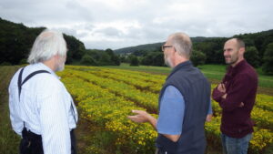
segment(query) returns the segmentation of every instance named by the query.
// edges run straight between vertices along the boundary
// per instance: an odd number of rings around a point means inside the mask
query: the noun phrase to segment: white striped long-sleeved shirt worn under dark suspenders
[[[46,70],[50,74],[36,74],[26,81],[19,100],[17,81],[21,69],[15,73],[8,89],[13,129],[22,136],[25,121],[27,130],[42,135],[45,154],[70,154],[70,130],[76,128],[77,121],[73,99],[55,72],[43,63],[37,63],[25,67],[22,82],[37,70]]]

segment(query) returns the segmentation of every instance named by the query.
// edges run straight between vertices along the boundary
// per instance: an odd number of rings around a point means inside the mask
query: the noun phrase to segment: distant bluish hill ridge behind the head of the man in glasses
[[[191,37],[191,40],[193,43],[199,43],[199,42],[204,42],[208,39],[214,39],[214,38],[219,38],[219,37],[204,37],[204,36],[197,36],[197,37]],[[138,45],[138,46],[129,46],[129,47],[124,47],[124,48],[119,48],[114,50],[116,54],[129,54],[133,53],[135,51],[161,51],[161,46],[165,42],[159,42],[159,43],[154,43],[154,44],[145,44],[145,45]]]

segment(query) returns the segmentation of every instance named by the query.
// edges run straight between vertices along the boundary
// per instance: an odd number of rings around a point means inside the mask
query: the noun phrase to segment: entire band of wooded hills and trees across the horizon
[[[27,27],[23,24],[0,18],[0,65],[20,65],[26,63],[30,49],[45,27]],[[74,36],[64,35],[68,48],[66,64],[91,66],[119,66],[121,62],[131,66],[165,66],[161,46],[164,43],[147,44],[121,48],[113,51],[86,49]],[[246,43],[245,57],[253,67],[261,67],[263,72],[273,74],[273,29],[240,34]],[[195,66],[204,64],[224,64],[223,46],[229,37],[192,37],[193,52],[191,61]]]

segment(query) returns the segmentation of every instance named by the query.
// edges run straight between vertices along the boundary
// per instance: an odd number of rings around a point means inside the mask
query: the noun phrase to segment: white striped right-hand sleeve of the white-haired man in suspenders
[[[44,89],[43,93],[37,97],[40,102],[39,114],[44,152],[45,154],[71,153],[64,91],[57,82],[48,83]]]

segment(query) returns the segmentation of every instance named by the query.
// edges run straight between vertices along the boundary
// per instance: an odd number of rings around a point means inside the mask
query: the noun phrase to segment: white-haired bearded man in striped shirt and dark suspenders
[[[61,33],[45,30],[36,37],[28,62],[9,85],[12,127],[22,137],[20,154],[76,154],[76,106],[56,76],[66,62]]]

